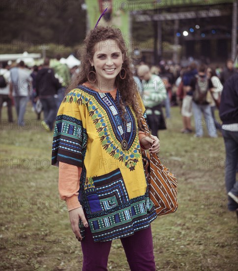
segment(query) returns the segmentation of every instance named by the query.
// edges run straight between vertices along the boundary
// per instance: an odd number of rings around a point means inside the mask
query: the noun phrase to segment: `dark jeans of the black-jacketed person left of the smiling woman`
[[[58,110],[56,98],[54,96],[40,97],[40,102],[43,106],[44,120],[50,130],[53,130]]]

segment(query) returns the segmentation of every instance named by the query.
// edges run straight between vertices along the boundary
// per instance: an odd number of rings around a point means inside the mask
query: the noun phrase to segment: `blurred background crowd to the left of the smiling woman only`
[[[42,127],[52,131],[57,110],[62,102],[66,87],[77,67],[68,68],[60,63],[60,56],[50,60],[45,58],[42,65],[29,68],[24,61],[9,66],[1,63],[0,68],[0,119],[2,105],[6,104],[8,123],[12,123],[12,105],[16,108],[17,124],[25,125],[25,113],[28,102],[36,113],[37,120],[44,117]]]

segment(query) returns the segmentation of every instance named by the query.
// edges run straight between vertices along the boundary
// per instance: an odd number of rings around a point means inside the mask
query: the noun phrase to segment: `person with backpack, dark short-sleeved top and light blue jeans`
[[[208,135],[217,137],[216,127],[211,114],[211,107],[207,100],[208,91],[212,90],[213,85],[210,79],[206,76],[206,66],[202,64],[199,67],[198,75],[191,79],[189,89],[192,90],[192,109],[195,122],[195,137],[203,136],[203,126],[206,123]],[[205,122],[202,119],[202,113]]]

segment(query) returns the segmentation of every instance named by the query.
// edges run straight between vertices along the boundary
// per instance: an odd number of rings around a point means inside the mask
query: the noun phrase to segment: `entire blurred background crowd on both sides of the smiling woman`
[[[181,67],[172,61],[161,61],[160,65],[151,67],[141,62],[132,69],[146,106],[152,135],[158,135],[160,130],[166,129],[166,119],[171,118],[173,105],[181,108],[181,133],[195,132],[194,136],[202,137],[203,127],[207,127],[210,137],[217,137],[217,131],[221,132],[221,122],[216,119],[215,111],[219,107],[224,83],[237,72],[232,60],[229,59],[224,68],[203,63],[198,65],[195,62]],[[78,71],[79,67],[70,69],[66,64],[61,64],[59,55],[54,61],[46,58],[42,65],[31,68],[24,61],[13,67],[9,67],[6,62],[1,63],[0,76],[7,83],[0,87],[0,112],[5,102],[8,122],[13,122],[14,104],[18,125],[24,126],[26,106],[31,101],[38,120],[41,111],[44,112],[42,127],[52,131],[67,86]],[[192,115],[194,128],[191,125]]]

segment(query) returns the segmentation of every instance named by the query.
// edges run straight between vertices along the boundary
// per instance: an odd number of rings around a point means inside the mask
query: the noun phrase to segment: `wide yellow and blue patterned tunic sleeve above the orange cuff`
[[[81,95],[77,90],[70,92],[59,107],[52,146],[54,166],[63,162],[82,167],[88,135],[86,106],[80,102]]]

